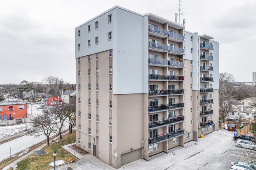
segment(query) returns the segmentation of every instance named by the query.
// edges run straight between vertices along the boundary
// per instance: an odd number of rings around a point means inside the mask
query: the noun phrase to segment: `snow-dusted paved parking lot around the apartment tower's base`
[[[191,141],[184,147],[178,146],[149,158],[124,165],[120,170],[228,170],[231,162],[246,162],[256,159],[256,151],[238,148],[233,140],[233,132],[219,130],[198,141]],[[102,162],[103,163],[103,162]],[[101,164],[102,165],[102,164]],[[100,166],[90,158],[59,166],[57,170],[113,169],[108,165]]]

